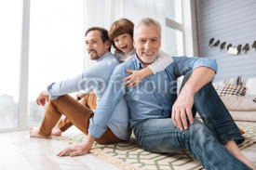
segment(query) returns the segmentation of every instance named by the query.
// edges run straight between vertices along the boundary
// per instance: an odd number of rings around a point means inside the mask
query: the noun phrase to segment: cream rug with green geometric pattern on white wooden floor
[[[243,136],[246,139],[239,145],[240,150],[256,143],[256,125],[237,125],[245,131]],[[85,143],[87,136],[81,134],[74,137],[58,137],[58,139],[69,144],[81,144]],[[155,154],[142,150],[135,137],[130,137],[128,142],[112,145],[101,145],[95,142],[91,152],[102,160],[123,169],[203,169],[203,166],[187,150]]]

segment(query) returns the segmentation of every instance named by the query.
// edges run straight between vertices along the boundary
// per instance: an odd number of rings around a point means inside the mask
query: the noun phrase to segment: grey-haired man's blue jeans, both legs
[[[182,85],[190,77],[187,72]],[[195,109],[204,123],[194,119],[181,131],[171,118],[145,119],[134,125],[134,135],[143,150],[161,153],[189,150],[206,169],[250,169],[234,157],[222,143],[244,141],[221,98],[209,83],[195,94]],[[195,115],[194,109],[194,115]]]

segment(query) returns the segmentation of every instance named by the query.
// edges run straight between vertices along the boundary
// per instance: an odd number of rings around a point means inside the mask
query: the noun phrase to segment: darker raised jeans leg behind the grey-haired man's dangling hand
[[[189,71],[185,74],[182,87],[190,77],[191,73],[192,71]],[[195,93],[194,102],[194,115],[196,113],[195,111],[197,111],[209,130],[219,141],[225,143],[229,140],[235,140],[238,145],[245,140],[244,137],[240,135],[237,125],[229,111],[227,111],[222,99],[218,96],[211,82],[204,85],[197,93]]]

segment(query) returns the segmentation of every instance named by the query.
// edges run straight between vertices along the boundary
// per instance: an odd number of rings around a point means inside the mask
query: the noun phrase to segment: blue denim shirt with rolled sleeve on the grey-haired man
[[[130,110],[130,127],[144,119],[168,117],[177,98],[177,78],[197,67],[209,67],[215,72],[218,70],[215,59],[173,57],[173,62],[164,71],[149,75],[135,88],[130,88],[124,85],[122,79],[130,74],[126,70],[142,69],[141,62],[135,54],[133,59],[115,68],[101,98],[97,114],[90,124],[89,134],[101,137],[116,104],[123,97],[127,100]],[[111,102],[108,102],[110,100]]]

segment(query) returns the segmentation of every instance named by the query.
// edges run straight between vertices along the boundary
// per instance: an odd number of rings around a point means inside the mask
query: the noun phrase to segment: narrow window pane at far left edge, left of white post
[[[0,1],[0,128],[18,126],[22,3]]]

